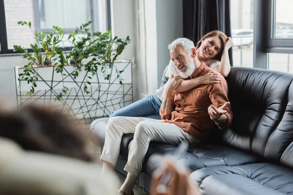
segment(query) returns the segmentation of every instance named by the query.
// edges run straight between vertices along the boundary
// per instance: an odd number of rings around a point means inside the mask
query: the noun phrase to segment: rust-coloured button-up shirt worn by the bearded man
[[[214,70],[201,62],[200,67],[186,80],[204,76],[212,71]],[[228,121],[223,126],[212,121],[208,113],[211,104],[219,108],[229,101],[228,84],[225,79],[215,84],[201,84],[186,92],[173,92],[172,98],[175,108],[171,115],[164,115],[160,110],[163,122],[175,124],[201,141],[206,141],[209,138],[209,133],[215,125],[225,129],[232,122],[233,115],[230,105],[226,107]]]

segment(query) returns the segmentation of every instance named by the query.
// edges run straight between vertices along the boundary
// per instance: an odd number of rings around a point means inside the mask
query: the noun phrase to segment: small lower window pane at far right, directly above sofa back
[[[268,53],[267,69],[293,73],[293,54]]]

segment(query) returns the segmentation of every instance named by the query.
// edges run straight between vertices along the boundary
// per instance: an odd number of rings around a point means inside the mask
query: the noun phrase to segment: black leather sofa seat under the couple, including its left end
[[[95,140],[99,143],[101,148],[105,142],[105,129],[108,118],[100,118],[92,123],[91,132],[93,137],[99,137]],[[133,134],[124,134],[121,140],[119,158],[127,160],[129,148],[132,145]],[[166,155],[173,155],[176,146],[152,141],[149,144],[148,151],[143,165],[143,172],[147,176],[151,174],[160,166],[162,157]],[[236,166],[250,163],[262,162],[262,158],[246,153],[237,149],[233,149],[224,145],[212,145],[204,143],[191,144],[188,147],[181,161],[192,171],[210,167],[210,166]]]

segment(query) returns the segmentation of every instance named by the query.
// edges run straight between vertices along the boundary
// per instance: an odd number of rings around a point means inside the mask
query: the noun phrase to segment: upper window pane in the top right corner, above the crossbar
[[[293,38],[292,0],[275,0],[274,38]]]

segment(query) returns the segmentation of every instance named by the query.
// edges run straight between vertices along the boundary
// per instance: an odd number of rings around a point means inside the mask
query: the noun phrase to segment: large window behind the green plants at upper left
[[[59,26],[66,35],[93,20],[91,29],[105,32],[110,27],[108,3],[108,0],[0,0],[0,53],[13,53],[13,45],[29,48],[35,42],[30,29],[17,24],[18,21],[31,21],[33,32],[46,34],[55,31],[53,25]]]

